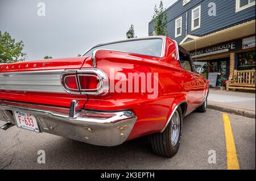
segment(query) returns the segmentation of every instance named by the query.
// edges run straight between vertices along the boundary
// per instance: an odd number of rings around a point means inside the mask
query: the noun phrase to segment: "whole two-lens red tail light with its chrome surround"
[[[100,69],[65,70],[61,84],[71,94],[102,95],[109,91],[108,76]]]

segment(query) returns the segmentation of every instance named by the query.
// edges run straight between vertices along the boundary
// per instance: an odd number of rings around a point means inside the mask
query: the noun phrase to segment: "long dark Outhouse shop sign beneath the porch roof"
[[[232,50],[235,50],[237,47],[237,42],[230,42],[230,43],[225,43],[221,45],[216,45],[214,47],[209,47],[205,49],[200,49],[196,50],[195,52],[191,53],[192,58],[197,58],[197,57],[204,57],[204,56],[209,56],[212,54],[219,54],[219,53],[225,53],[225,52],[230,52]],[[240,45],[241,47],[241,45]]]

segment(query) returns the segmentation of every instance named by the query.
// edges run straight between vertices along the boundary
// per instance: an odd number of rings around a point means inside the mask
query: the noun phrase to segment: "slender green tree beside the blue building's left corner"
[[[166,30],[168,16],[167,16],[166,8],[164,8],[162,1],[160,1],[159,7],[155,5],[154,11],[155,12],[152,17],[152,21],[154,22],[154,25],[155,25],[155,35],[168,36],[168,32]]]

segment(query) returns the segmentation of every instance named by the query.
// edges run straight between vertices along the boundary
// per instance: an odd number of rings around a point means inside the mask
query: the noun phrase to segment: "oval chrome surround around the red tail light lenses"
[[[80,83],[78,81],[78,85],[79,85],[79,91],[72,91],[72,90],[68,90],[67,87],[65,86],[65,82],[63,77],[66,74],[82,74],[82,73],[91,73],[91,74],[96,74],[101,82],[101,88],[100,90],[97,90],[96,92],[86,92],[87,90],[81,90],[80,87]],[[64,70],[63,73],[61,73],[60,75],[60,80],[61,80],[61,85],[63,86],[63,89],[68,92],[69,94],[88,94],[88,95],[105,95],[109,92],[109,78],[108,76],[104,73],[104,71],[102,71],[101,69],[98,68],[87,68],[87,69],[81,69],[81,70]]]

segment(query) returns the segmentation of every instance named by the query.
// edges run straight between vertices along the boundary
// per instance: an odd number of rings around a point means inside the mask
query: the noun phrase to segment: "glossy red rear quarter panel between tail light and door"
[[[146,134],[160,132],[177,103],[187,100],[187,92],[191,91],[191,82],[186,80],[183,69],[164,62],[164,59],[141,56],[131,53],[100,50],[96,55],[97,68],[102,69],[114,81],[115,85],[121,79],[113,77],[110,71],[117,75],[125,75],[123,82],[127,85],[129,73],[158,74],[158,89],[154,99],[149,99],[150,92],[109,92],[104,96],[88,95],[86,109],[106,111],[131,109],[137,115],[128,140]],[[177,61],[177,60],[168,60]]]

